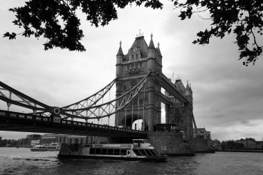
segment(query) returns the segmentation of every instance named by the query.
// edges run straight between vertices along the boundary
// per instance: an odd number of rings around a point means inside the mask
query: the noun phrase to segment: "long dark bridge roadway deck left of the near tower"
[[[145,131],[97,125],[89,122],[64,120],[60,116],[36,116],[27,113],[0,110],[1,131],[33,133],[64,133],[71,135],[102,136],[110,138],[146,138]]]

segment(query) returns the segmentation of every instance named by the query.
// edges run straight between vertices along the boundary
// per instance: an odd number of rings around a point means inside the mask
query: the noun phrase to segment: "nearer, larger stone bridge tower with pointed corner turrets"
[[[115,125],[129,128],[132,122],[142,119],[142,129],[154,131],[154,125],[161,123],[161,100],[159,98],[161,86],[156,80],[156,73],[162,72],[162,55],[159,44],[155,48],[151,35],[148,46],[143,33],[139,33],[126,55],[123,54],[120,42],[116,59],[116,75],[118,75],[116,98],[136,86],[149,71],[150,75],[138,98],[135,98],[123,111],[116,113]]]

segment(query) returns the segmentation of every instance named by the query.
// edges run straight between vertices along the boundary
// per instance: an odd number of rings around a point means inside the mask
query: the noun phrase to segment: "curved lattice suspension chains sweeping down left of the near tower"
[[[73,120],[74,118],[79,118],[86,121],[89,119],[99,120],[100,118],[109,117],[122,110],[132,100],[134,100],[143,86],[145,86],[149,73],[147,73],[147,75],[145,75],[145,77],[143,77],[143,79],[140,80],[136,86],[127,91],[127,93],[105,103],[103,103],[103,97],[110,92],[111,87],[115,84],[116,80],[118,80],[118,77],[112,80],[103,89],[88,98],[62,108],[48,106],[47,104],[39,102],[30,98],[28,95],[13,89],[3,82],[0,82],[0,100],[7,102],[8,110],[11,104],[15,104],[20,107],[32,109],[33,114],[44,114],[44,116],[49,116],[46,113],[53,113],[55,115],[62,116],[64,119],[71,118]],[[102,104],[98,104],[101,99]]]

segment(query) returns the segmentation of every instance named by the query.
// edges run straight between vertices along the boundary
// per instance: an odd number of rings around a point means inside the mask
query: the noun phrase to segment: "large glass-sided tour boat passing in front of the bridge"
[[[67,145],[62,143],[58,158],[89,158],[100,160],[143,160],[161,162],[160,155],[145,139],[133,139],[130,144]]]

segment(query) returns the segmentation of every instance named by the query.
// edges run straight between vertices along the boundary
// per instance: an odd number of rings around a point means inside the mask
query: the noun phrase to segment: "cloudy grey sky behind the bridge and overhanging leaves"
[[[120,41],[127,54],[140,30],[147,44],[151,34],[155,46],[160,43],[163,73],[173,82],[179,76],[183,84],[191,84],[197,127],[205,127],[212,139],[262,140],[262,55],[255,66],[243,66],[234,35],[210,39],[206,46],[192,44],[200,30],[210,28],[211,21],[201,19],[207,14],[181,21],[179,10],[164,2],[163,10],[127,6],[118,10],[117,20],[98,28],[80,15],[82,44],[87,49],[82,53],[60,48],[45,51],[45,39],[0,37],[0,81],[50,106],[72,104],[114,80]],[[24,1],[0,1],[0,35],[21,32],[12,24],[15,15],[8,9],[23,5]],[[6,103],[0,101],[0,109],[7,110]],[[0,131],[3,139],[26,134]]]

